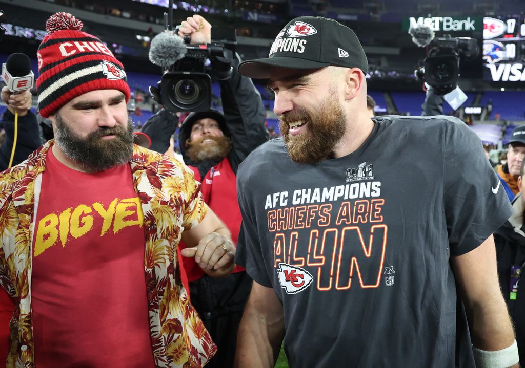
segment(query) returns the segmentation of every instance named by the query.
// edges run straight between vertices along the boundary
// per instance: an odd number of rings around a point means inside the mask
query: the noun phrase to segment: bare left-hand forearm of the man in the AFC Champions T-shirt
[[[254,281],[239,325],[234,368],[273,367],[284,335],[282,304],[274,289]]]

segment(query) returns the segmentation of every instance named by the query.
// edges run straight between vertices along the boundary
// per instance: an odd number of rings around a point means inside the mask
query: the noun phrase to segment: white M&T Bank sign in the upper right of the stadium
[[[408,31],[409,27],[426,25],[434,31],[475,31],[481,30],[483,23],[481,17],[410,17],[403,21],[403,30]]]

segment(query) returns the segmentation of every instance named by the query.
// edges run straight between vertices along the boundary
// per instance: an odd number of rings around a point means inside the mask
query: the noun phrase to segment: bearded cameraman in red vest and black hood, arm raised
[[[182,22],[178,35],[190,35],[191,44],[209,44],[211,28],[203,17],[194,15]],[[218,81],[224,114],[215,110],[193,112],[185,118],[179,132],[184,161],[194,171],[196,179],[201,181],[205,202],[228,226],[234,243],[237,242],[241,222],[237,203],[237,168],[252,150],[268,140],[260,94],[249,78],[238,73],[239,63],[237,56],[233,59],[231,75]],[[212,69],[213,65],[212,60]],[[164,153],[175,129],[176,117],[163,109],[144,124],[142,132],[150,136],[151,149]],[[209,132],[211,129],[215,129],[214,133]],[[195,135],[195,131],[201,132]],[[217,144],[217,141],[211,142],[214,140],[212,135],[217,139],[226,137],[223,142],[230,142],[229,150],[223,151],[222,157],[197,158],[188,155],[188,150],[198,150],[201,145],[204,148]],[[195,136],[199,138],[192,140]],[[193,258],[191,262],[187,261],[188,258],[184,258],[192,304],[218,346],[216,355],[207,366],[233,366],[237,327],[251,289],[251,279],[239,266],[226,278],[212,278],[202,272]]]

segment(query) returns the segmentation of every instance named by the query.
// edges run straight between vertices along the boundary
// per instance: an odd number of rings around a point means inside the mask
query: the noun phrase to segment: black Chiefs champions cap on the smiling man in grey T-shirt
[[[298,17],[279,32],[268,58],[240,63],[239,73],[267,79],[272,67],[314,69],[330,65],[359,68],[366,74],[368,62],[358,37],[337,20]]]

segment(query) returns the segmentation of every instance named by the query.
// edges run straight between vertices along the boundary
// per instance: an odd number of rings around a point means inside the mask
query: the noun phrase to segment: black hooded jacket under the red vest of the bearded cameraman
[[[219,81],[220,99],[226,122],[224,134],[232,138],[232,150],[228,154],[228,160],[235,173],[237,173],[237,168],[241,161],[251,151],[268,140],[268,132],[264,125],[265,111],[261,96],[251,79],[239,74],[237,71],[239,63],[240,60],[238,58],[234,59],[232,76],[229,79]],[[172,114],[163,110],[152,116],[144,124],[142,132],[150,137],[152,150],[164,153],[169,147],[170,137],[176,129],[176,118],[172,120],[170,115]],[[187,138],[186,129],[181,129],[178,140],[184,162],[186,165],[196,166],[201,177],[204,177],[220,160],[206,160],[198,164],[194,163],[185,155],[186,148],[184,143]]]

